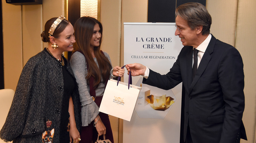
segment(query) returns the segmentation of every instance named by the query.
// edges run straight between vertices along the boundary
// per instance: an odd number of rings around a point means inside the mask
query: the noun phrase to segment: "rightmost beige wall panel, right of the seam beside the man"
[[[238,0],[238,16],[236,29],[236,48],[240,52],[244,62],[245,73],[245,111],[244,124],[248,141],[241,143],[255,143],[256,126],[256,40],[255,17],[256,1]]]

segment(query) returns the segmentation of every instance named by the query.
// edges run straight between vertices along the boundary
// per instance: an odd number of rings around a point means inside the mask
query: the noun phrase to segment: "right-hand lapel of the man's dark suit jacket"
[[[202,57],[202,60],[198,66],[198,69],[197,69],[197,73],[196,73],[196,76],[194,77],[194,79],[192,80],[192,83],[189,87],[189,93],[192,91],[193,87],[196,85],[196,83],[198,82],[199,78],[201,77],[201,75],[203,74],[203,71],[205,70],[205,68],[207,67],[210,59],[211,59],[211,54],[214,50],[214,46],[215,46],[215,43],[216,43],[216,38],[213,37],[212,35],[212,38],[209,42],[209,45],[207,46],[204,54],[203,54],[203,57]],[[191,69],[191,76],[192,76],[192,69]]]

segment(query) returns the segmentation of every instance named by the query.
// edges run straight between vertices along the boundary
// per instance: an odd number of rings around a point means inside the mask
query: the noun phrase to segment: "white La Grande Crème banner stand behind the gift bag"
[[[175,23],[124,23],[124,65],[141,63],[160,74],[169,72],[183,47],[175,30]],[[181,84],[163,90],[142,79],[132,78],[142,88],[131,121],[124,120],[123,143],[179,143]]]

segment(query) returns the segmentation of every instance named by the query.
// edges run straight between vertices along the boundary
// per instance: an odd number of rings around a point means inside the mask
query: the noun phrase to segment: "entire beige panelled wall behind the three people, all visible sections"
[[[102,49],[109,53],[113,66],[123,65],[123,23],[147,22],[148,0],[101,0],[104,27]],[[47,20],[64,15],[64,0],[44,0],[43,5],[14,6],[2,2],[5,88],[15,89],[27,60],[46,44],[40,34]],[[256,129],[256,40],[254,40],[255,0],[207,0],[212,16],[211,33],[235,46],[244,61],[245,112],[243,121],[248,141],[255,143]],[[122,143],[122,120],[110,117],[116,143]]]

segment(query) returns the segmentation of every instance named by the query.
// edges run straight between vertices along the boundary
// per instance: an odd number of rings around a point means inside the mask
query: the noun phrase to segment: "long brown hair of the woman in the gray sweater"
[[[99,24],[100,32],[101,32],[99,46],[94,47],[94,55],[97,59],[99,67],[97,67],[89,48],[95,24]],[[112,65],[109,62],[108,58],[103,54],[101,54],[100,52],[100,45],[102,42],[102,31],[103,31],[102,24],[92,17],[80,17],[75,22],[74,29],[75,29],[75,40],[76,40],[75,51],[81,51],[86,57],[86,61],[88,64],[88,69],[87,69],[88,73],[86,75],[87,83],[90,77],[93,76],[94,77],[93,86],[96,88],[100,84],[101,78],[103,78],[104,82],[108,80],[110,76],[110,70],[112,68]]]

